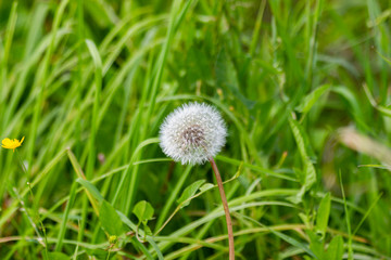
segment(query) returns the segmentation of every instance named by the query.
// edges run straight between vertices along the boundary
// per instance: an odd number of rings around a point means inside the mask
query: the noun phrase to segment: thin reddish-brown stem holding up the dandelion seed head
[[[232,221],[229,214],[229,208],[228,208],[228,203],[227,203],[227,198],[225,196],[225,192],[224,192],[224,187],[223,187],[223,181],[222,181],[222,177],[218,172],[218,168],[216,166],[216,162],[214,161],[214,159],[212,157],[210,157],[210,161],[212,165],[212,169],[215,173],[216,180],[217,180],[217,185],[218,185],[218,191],[220,193],[220,197],[222,197],[222,203],[223,203],[223,207],[224,207],[224,212],[226,214],[226,221],[227,221],[227,230],[228,230],[228,243],[229,243],[229,260],[235,260],[235,244],[234,244],[234,232],[232,232]]]

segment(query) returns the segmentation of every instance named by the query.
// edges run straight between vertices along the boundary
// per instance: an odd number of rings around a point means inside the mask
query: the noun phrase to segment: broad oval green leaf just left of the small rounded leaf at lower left
[[[109,235],[119,236],[124,233],[122,220],[114,207],[106,200],[102,200],[99,209],[99,220]]]

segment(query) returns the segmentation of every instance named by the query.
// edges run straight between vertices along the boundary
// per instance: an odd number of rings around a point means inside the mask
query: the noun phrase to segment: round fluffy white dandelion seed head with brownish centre
[[[226,142],[222,115],[205,103],[189,103],[169,114],[160,129],[161,147],[175,161],[203,164]]]

